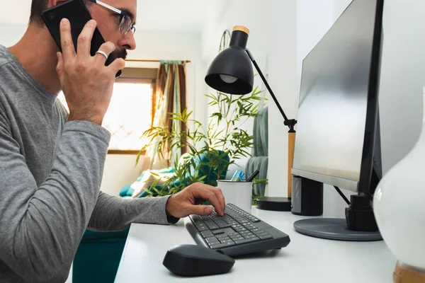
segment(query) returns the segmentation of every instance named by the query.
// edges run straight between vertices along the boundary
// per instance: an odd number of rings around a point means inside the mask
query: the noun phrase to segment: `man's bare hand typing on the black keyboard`
[[[189,185],[176,195],[171,195],[166,203],[166,213],[176,218],[190,214],[210,215],[212,208],[208,205],[198,205],[199,202],[210,201],[218,215],[225,215],[225,197],[218,187],[203,183]]]

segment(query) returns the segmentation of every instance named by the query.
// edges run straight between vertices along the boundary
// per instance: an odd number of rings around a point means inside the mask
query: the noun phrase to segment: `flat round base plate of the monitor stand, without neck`
[[[346,219],[312,218],[294,222],[295,231],[316,238],[340,241],[380,241],[379,231],[352,231],[348,230]]]

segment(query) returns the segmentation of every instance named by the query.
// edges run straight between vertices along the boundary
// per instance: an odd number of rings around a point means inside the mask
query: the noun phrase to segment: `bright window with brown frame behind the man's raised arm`
[[[102,123],[111,132],[108,154],[137,154],[147,144],[140,137],[151,126],[156,75],[157,69],[128,68],[115,81]],[[67,108],[63,93],[59,98]]]

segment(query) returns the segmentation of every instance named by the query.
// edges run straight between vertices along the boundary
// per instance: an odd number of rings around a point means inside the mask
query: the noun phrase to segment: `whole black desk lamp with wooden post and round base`
[[[257,201],[257,207],[267,210],[291,210],[292,196],[292,175],[290,173],[293,167],[294,147],[295,147],[295,124],[297,120],[288,119],[285,112],[280,107],[276,96],[263,76],[259,65],[256,63],[251,52],[246,48],[248,42],[249,30],[242,25],[233,28],[229,47],[215,57],[205,76],[205,83],[211,88],[222,93],[244,95],[251,93],[254,86],[254,71],[252,64],[258,71],[268,92],[278,106],[280,114],[285,119],[285,126],[288,126],[288,197],[265,197]],[[251,64],[252,62],[252,64]]]

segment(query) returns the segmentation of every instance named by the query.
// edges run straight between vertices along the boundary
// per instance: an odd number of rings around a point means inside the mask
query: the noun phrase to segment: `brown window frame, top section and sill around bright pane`
[[[157,73],[158,68],[134,68],[126,67],[123,69],[123,74],[115,79],[115,83],[150,83],[152,86],[152,98],[157,93]],[[152,105],[153,106],[153,105]],[[137,155],[139,150],[125,150],[125,149],[108,149],[108,155]],[[142,155],[146,151],[142,151]]]

